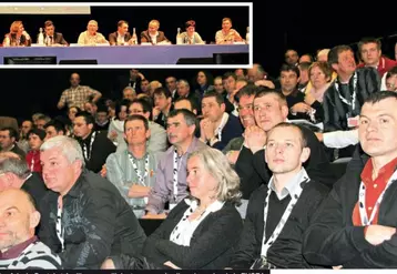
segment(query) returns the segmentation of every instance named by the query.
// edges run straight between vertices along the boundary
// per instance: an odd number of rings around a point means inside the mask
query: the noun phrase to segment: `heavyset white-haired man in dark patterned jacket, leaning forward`
[[[40,151],[51,191],[40,204],[39,236],[63,266],[99,268],[109,255],[139,255],[146,239],[142,227],[118,189],[84,169],[78,141],[54,136]]]

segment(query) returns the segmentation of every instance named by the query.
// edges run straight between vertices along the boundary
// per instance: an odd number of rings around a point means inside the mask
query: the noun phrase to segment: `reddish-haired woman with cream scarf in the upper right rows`
[[[305,91],[305,103],[315,109],[313,123],[324,120],[323,99],[324,93],[332,84],[333,70],[327,62],[314,62],[308,69],[309,83]]]

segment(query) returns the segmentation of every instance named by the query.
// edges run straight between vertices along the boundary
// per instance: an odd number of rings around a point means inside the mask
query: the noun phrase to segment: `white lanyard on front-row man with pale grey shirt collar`
[[[303,170],[304,171],[304,170]],[[311,181],[311,179],[308,177],[307,173],[304,172],[302,180],[299,182],[299,187],[296,187],[297,190],[295,191],[295,193],[291,193],[291,201],[287,205],[287,207],[285,209],[282,219],[279,220],[276,229],[273,231],[272,235],[268,237],[267,242],[265,242],[266,239],[266,221],[267,221],[267,213],[268,213],[268,200],[269,196],[272,194],[272,189],[271,189],[271,183],[272,183],[273,179],[269,181],[268,183],[268,189],[267,189],[267,196],[265,200],[265,209],[264,209],[264,223],[265,223],[265,227],[263,230],[263,245],[262,245],[262,250],[261,250],[261,255],[266,257],[267,256],[267,251],[268,248],[272,246],[272,244],[277,240],[279,233],[283,231],[285,223],[288,221],[288,217],[291,215],[291,212],[293,211],[296,202],[298,201],[303,187],[301,187],[302,183],[307,183]]]

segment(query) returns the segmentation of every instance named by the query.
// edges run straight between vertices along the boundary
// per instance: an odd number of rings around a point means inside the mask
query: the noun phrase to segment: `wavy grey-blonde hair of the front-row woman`
[[[240,177],[227,162],[226,156],[216,149],[205,148],[192,152],[187,160],[197,156],[204,169],[216,180],[216,197],[221,202],[241,204]]]

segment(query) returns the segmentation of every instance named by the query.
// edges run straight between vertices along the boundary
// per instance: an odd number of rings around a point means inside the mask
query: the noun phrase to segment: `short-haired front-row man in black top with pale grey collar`
[[[309,267],[302,255],[302,235],[328,193],[302,166],[309,155],[306,135],[298,125],[284,122],[267,133],[265,160],[273,176],[250,199],[231,267]]]

